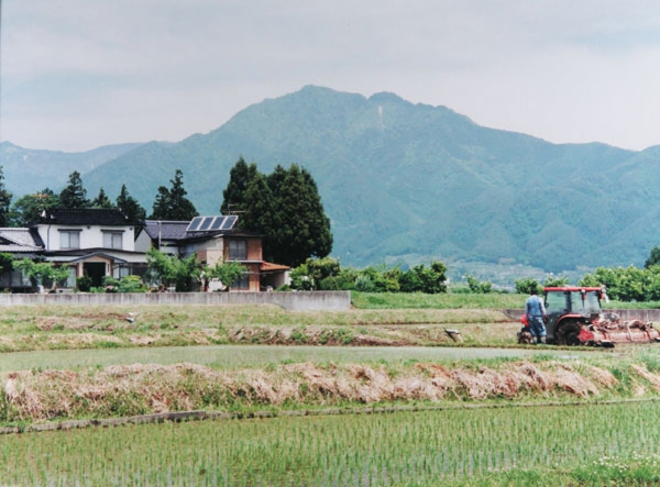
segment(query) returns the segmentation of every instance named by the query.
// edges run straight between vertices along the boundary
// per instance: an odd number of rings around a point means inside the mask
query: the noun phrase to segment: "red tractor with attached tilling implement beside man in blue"
[[[652,323],[639,320],[622,322],[616,313],[603,312],[600,287],[547,287],[546,305],[547,342],[557,345],[614,346],[615,343],[660,342],[660,332]],[[532,343],[522,316],[518,343]]]

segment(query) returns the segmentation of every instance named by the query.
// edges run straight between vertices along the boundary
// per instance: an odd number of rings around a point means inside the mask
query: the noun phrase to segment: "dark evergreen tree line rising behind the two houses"
[[[160,186],[152,212],[133,198],[122,185],[112,201],[103,188],[96,198],[88,198],[78,171],[69,175],[67,185],[56,193],[44,188],[25,195],[11,203],[12,195],[4,186],[0,166],[0,226],[28,226],[38,221],[44,210],[119,209],[129,221],[189,221],[199,213],[188,199],[184,174],[176,169],[170,186]],[[332,250],[330,219],[324,212],[318,187],[309,171],[293,164],[280,165],[272,174],[258,171],[256,164],[248,165],[243,157],[230,170],[222,191],[222,214],[238,214],[238,228],[262,236],[264,259],[287,266],[302,264],[309,257],[322,258]]]

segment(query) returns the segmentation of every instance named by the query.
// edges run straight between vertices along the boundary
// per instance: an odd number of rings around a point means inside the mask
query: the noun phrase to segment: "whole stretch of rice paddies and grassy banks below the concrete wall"
[[[0,485],[660,482],[657,347],[519,347],[522,296],[388,299],[3,309]]]

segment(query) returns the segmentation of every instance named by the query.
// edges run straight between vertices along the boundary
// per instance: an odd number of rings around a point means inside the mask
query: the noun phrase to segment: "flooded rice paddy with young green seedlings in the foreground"
[[[658,479],[659,416],[660,403],[645,401],[25,433],[0,438],[0,478],[53,487],[373,487],[490,485],[522,469],[578,486],[644,452],[642,475]]]

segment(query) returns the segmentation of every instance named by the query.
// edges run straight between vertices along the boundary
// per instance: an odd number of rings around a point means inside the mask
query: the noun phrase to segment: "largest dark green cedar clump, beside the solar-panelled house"
[[[298,266],[309,257],[330,253],[330,220],[306,169],[294,164],[287,170],[278,165],[264,177],[242,158],[234,169],[221,208],[239,208],[243,211],[241,228],[264,235],[265,259]]]

